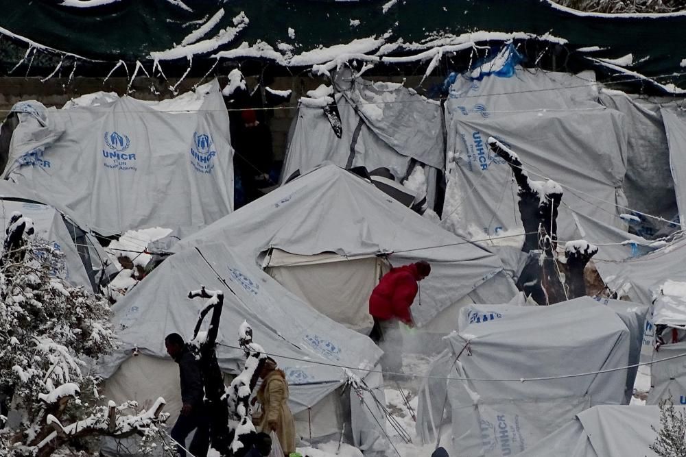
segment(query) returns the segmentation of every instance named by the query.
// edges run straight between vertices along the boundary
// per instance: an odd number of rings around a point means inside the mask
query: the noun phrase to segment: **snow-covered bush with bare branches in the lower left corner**
[[[0,401],[3,411],[11,407],[21,419],[1,430],[0,455],[43,457],[60,448],[88,447],[88,436],[153,430],[165,417],[159,415],[162,398],[137,415],[121,415],[137,408],[134,402],[98,406],[91,366],[115,345],[107,302],[60,279],[62,253],[50,245],[23,240],[21,256],[5,254]]]

